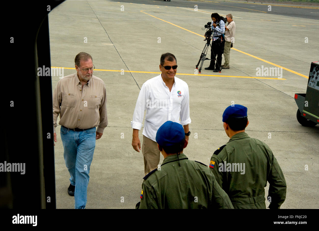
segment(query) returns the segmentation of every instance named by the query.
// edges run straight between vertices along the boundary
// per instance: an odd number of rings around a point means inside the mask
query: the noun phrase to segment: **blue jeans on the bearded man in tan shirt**
[[[89,172],[95,148],[96,128],[77,132],[61,126],[65,165],[74,186],[75,208],[85,208]]]

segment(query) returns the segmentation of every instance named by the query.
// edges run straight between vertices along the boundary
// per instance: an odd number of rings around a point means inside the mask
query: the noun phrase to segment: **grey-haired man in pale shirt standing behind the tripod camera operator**
[[[221,65],[222,69],[229,69],[229,56],[230,56],[230,48],[232,47],[232,43],[235,42],[235,30],[236,25],[233,21],[233,15],[227,14],[226,19],[228,25],[225,26],[225,47],[224,47],[224,65]]]

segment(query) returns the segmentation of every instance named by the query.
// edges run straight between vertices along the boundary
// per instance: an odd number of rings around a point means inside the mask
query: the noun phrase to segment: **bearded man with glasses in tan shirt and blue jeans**
[[[64,160],[71,176],[68,194],[74,196],[76,209],[84,209],[95,140],[108,125],[107,98],[104,82],[93,76],[92,56],[80,52],[74,61],[77,73],[59,80],[53,93],[53,129],[56,142],[60,114]]]

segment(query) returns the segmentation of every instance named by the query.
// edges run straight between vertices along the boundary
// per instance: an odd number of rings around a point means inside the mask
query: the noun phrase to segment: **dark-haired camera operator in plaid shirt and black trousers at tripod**
[[[213,38],[211,41],[211,63],[209,67],[205,67],[205,70],[214,70],[214,72],[219,72],[221,70],[221,60],[222,54],[224,53],[224,33],[225,33],[225,22],[220,18],[218,13],[211,14],[212,25],[211,29],[213,31]],[[216,68],[215,68],[215,58],[217,57]]]

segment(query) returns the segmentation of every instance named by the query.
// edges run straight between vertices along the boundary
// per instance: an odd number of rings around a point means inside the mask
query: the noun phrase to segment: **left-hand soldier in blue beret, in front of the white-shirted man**
[[[136,208],[234,208],[206,165],[182,153],[188,142],[182,125],[165,122],[156,133],[164,161],[143,179]]]

